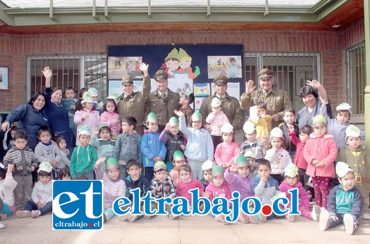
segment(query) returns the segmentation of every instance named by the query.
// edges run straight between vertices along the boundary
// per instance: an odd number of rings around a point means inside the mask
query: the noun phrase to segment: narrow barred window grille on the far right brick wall
[[[365,44],[360,43],[346,50],[347,102],[352,107],[353,116],[364,116],[365,89]]]

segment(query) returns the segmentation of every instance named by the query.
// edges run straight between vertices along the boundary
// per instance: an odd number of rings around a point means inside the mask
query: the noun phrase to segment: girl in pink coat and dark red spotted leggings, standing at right
[[[308,162],[306,174],[312,176],[316,205],[326,208],[330,178],[334,178],[334,160],[338,150],[334,137],[327,132],[325,117],[313,117],[313,133],[304,146],[304,159]]]

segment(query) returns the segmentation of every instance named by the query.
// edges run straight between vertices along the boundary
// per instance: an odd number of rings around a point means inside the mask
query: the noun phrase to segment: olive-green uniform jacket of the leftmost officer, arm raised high
[[[124,94],[117,98],[117,110],[119,113],[119,120],[125,116],[133,116],[136,121],[138,121],[137,128],[135,128],[136,132],[142,134],[142,123],[144,122],[144,114],[145,114],[145,101],[150,93],[150,77],[142,76],[142,80],[144,81],[142,85],[142,91],[138,91],[135,93],[131,93],[130,96],[124,98]],[[139,131],[138,131],[139,130]]]

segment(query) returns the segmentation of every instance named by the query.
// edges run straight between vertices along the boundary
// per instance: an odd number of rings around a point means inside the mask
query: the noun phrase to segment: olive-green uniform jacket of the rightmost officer
[[[256,105],[257,102],[264,102],[267,105],[267,114],[270,116],[280,114],[279,121],[272,121],[272,128],[275,128],[280,123],[283,123],[283,110],[292,107],[292,102],[286,91],[277,89],[273,86],[272,92],[265,96],[262,89],[257,89],[251,94],[243,93],[240,97],[240,106],[245,112],[249,112],[249,108]]]

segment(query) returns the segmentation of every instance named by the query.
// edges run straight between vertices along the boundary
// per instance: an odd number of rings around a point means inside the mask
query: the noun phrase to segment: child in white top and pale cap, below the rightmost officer
[[[288,151],[282,147],[285,144],[284,135],[279,128],[272,129],[269,136],[269,144],[271,144],[272,148],[266,151],[265,159],[271,163],[270,176],[281,184],[284,178],[284,169],[292,162],[292,159]]]

